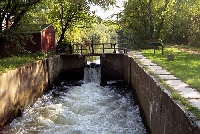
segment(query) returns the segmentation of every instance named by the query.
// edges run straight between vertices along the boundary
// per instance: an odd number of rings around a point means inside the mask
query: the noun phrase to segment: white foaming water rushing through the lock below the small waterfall
[[[61,82],[3,133],[146,134],[131,91],[114,84],[100,86],[100,70],[85,71],[84,81]]]

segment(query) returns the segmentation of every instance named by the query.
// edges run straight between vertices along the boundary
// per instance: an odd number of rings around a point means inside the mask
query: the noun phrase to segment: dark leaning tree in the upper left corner
[[[15,38],[16,28],[23,16],[41,0],[2,0],[0,2],[0,45],[3,53],[3,45],[6,41]],[[13,35],[12,35],[13,34]]]

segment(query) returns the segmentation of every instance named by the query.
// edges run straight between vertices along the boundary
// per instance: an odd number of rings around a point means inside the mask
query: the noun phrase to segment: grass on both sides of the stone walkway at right
[[[188,83],[191,87],[200,91],[200,55],[183,52],[180,51],[179,48],[173,46],[166,47],[164,55],[159,51],[156,51],[156,54],[154,54],[153,50],[150,49],[142,50],[142,52],[144,56],[170,71],[176,77]],[[175,56],[174,61],[167,60],[167,55],[171,53]],[[159,79],[159,82],[172,92],[172,97],[175,100],[179,101],[188,111],[193,112],[196,117],[200,119],[200,110],[197,107],[192,106],[186,98],[182,97],[178,92],[169,87],[164,80]]]

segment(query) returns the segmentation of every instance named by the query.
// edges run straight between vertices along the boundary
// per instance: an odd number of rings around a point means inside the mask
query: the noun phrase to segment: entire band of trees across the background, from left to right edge
[[[101,37],[98,42],[118,38],[134,48],[148,47],[152,41],[200,46],[199,0],[128,0],[115,21],[102,20],[90,11],[91,5],[107,9],[115,3],[116,0],[1,0],[0,46],[19,38],[17,28],[25,24],[53,24],[58,44],[88,41],[93,35]]]

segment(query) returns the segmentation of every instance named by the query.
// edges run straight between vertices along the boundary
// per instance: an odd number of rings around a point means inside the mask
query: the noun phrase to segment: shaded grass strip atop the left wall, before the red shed
[[[52,54],[25,54],[0,59],[0,74],[49,57]]]

